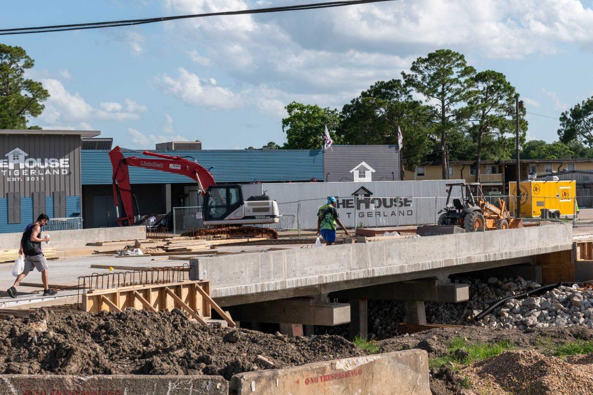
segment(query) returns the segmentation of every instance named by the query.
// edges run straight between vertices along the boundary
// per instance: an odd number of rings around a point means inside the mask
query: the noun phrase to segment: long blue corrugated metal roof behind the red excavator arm
[[[216,182],[282,182],[323,180],[322,150],[194,150],[152,151],[195,159]],[[109,150],[82,150],[82,185],[111,184]],[[124,156],[146,156],[123,152]],[[132,184],[187,184],[192,179],[130,166]]]

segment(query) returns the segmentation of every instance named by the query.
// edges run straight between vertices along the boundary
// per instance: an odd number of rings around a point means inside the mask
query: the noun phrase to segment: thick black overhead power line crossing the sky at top
[[[69,25],[19,27],[19,28],[10,28],[10,29],[0,29],[0,36],[7,36],[7,35],[11,35],[11,34],[49,33],[52,31],[69,31],[69,30],[98,29],[98,28],[104,28],[104,27],[132,26],[132,25],[174,21],[174,20],[189,19],[189,18],[216,17],[216,16],[221,16],[221,15],[246,15],[246,14],[266,14],[269,12],[302,11],[305,9],[344,7],[346,5],[368,4],[368,3],[377,3],[377,2],[384,2],[384,1],[395,1],[395,0],[342,0],[342,1],[330,1],[330,2],[322,2],[322,3],[300,4],[300,5],[285,5],[282,7],[241,9],[238,11],[208,12],[205,14],[176,15],[173,17],[157,17],[157,18],[145,18],[145,19],[129,19],[129,20],[122,20],[122,21],[76,23],[76,24],[69,24]]]

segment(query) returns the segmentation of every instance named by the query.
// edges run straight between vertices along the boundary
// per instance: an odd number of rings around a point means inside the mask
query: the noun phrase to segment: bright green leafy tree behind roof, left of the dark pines
[[[282,131],[286,133],[284,149],[321,148],[325,126],[330,132],[331,139],[336,141],[335,130],[340,121],[337,110],[296,101],[285,108],[288,117],[282,119]]]

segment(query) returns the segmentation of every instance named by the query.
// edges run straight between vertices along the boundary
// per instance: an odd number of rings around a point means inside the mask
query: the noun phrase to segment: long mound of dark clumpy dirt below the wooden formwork
[[[200,326],[180,310],[53,313],[0,321],[5,374],[232,375],[364,355],[339,336]],[[264,358],[260,357],[263,356]]]

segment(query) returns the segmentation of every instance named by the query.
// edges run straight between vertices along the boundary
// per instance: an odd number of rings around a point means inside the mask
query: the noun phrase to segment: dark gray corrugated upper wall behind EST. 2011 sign
[[[0,159],[8,159],[5,155],[16,148],[27,153],[25,160],[37,159],[45,166],[47,159],[68,159],[68,167],[2,167],[0,196],[6,197],[8,192],[20,192],[21,197],[30,196],[31,192],[45,192],[46,196],[51,196],[53,191],[66,191],[66,195],[70,196],[81,194],[80,136],[47,136],[41,130],[39,135],[5,135],[0,139]],[[31,170],[36,171],[36,174],[31,175]],[[15,171],[19,172],[18,175],[14,174]],[[27,171],[27,174],[23,174],[23,171]],[[46,171],[50,174],[45,174]],[[53,174],[55,171],[59,174]]]

